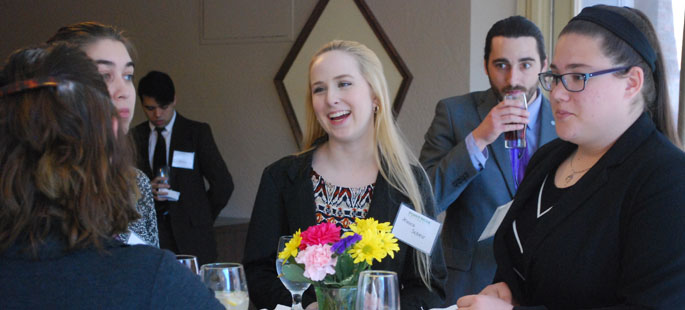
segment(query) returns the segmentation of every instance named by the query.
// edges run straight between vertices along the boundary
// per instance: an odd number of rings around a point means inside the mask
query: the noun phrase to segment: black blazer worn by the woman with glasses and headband
[[[555,140],[531,159],[495,235],[495,281],[522,306],[540,309],[682,309],[685,154],[646,114],[529,228],[521,275],[513,270],[512,222],[576,147]]]

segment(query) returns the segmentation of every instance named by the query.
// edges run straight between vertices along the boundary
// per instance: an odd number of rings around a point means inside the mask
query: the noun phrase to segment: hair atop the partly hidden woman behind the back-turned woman
[[[96,22],[81,22],[64,26],[57,30],[48,43],[69,42],[84,49],[88,45],[98,40],[109,39],[119,41],[124,44],[128,54],[135,59],[136,51],[133,44],[124,36],[123,31],[114,26],[104,25]]]

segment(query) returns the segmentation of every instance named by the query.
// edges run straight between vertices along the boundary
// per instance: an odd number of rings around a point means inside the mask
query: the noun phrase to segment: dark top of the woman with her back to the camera
[[[0,254],[0,309],[224,309],[171,252],[104,242],[106,252],[66,252],[53,237],[38,258],[10,247]]]

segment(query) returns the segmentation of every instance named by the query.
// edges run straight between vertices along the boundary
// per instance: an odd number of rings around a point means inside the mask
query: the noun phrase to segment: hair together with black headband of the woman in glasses
[[[613,19],[626,24],[622,26],[613,22]],[[616,32],[629,38],[621,38]],[[637,9],[596,5],[583,9],[564,27],[559,36],[570,33],[600,38],[603,54],[615,66],[638,66],[642,69],[644,83],[639,104],[650,114],[659,131],[680,146],[671,115],[661,45],[649,18]],[[647,41],[644,44],[638,39],[641,35]]]

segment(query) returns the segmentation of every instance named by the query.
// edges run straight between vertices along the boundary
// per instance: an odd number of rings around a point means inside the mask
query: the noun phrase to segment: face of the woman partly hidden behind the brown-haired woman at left
[[[87,45],[84,52],[97,64],[117,108],[120,125],[124,132],[128,132],[136,104],[136,89],[133,85],[134,65],[126,46],[116,40],[101,39]]]

